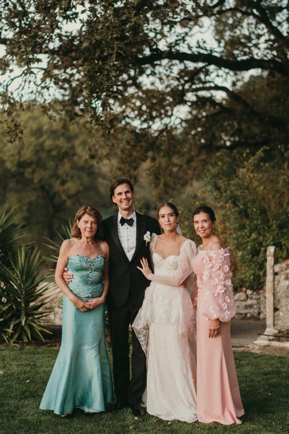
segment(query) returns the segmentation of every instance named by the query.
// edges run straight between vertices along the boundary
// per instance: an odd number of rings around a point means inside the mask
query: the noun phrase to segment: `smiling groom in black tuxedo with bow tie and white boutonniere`
[[[132,378],[129,374],[128,327],[141,308],[148,281],[137,266],[142,257],[151,268],[149,243],[144,235],[160,234],[156,219],[138,214],[133,208],[134,188],[128,179],[114,181],[110,198],[119,212],[103,220],[104,239],[109,245],[109,291],[106,296],[112,343],[113,379],[116,395],[114,410],[130,405],[134,416],[142,416],[139,405],[146,387],[144,351],[132,330]]]

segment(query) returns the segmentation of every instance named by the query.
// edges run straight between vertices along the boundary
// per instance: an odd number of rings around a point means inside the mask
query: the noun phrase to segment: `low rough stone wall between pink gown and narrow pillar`
[[[247,289],[236,293],[234,299],[238,315],[246,315],[247,318],[266,318],[265,290],[253,292]]]

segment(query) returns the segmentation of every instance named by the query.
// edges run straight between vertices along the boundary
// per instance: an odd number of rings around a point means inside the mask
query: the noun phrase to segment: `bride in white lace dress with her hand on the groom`
[[[147,356],[147,388],[143,400],[149,414],[170,421],[195,422],[195,311],[183,281],[192,273],[196,244],[177,233],[180,216],[166,202],[157,213],[164,234],[152,234],[151,263],[143,258],[139,270],[151,285],[132,324]],[[164,284],[171,277],[170,285]],[[193,281],[193,279],[192,279]]]

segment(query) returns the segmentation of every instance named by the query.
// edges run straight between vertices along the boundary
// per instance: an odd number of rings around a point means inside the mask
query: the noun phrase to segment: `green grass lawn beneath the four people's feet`
[[[135,420],[126,408],[94,418],[86,418],[76,409],[73,419],[61,420],[52,411],[39,410],[57,354],[58,348],[0,347],[1,434],[289,433],[289,358],[234,354],[245,415],[243,424],[224,426],[179,421],[168,424],[149,414]]]

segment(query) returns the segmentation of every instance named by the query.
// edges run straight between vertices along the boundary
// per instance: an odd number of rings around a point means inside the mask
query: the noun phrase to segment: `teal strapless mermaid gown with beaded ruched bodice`
[[[68,258],[73,274],[69,288],[84,301],[103,292],[104,257],[83,255]],[[45,389],[40,408],[67,414],[75,407],[104,411],[113,402],[112,379],[105,343],[105,303],[81,312],[63,295],[61,347]]]

